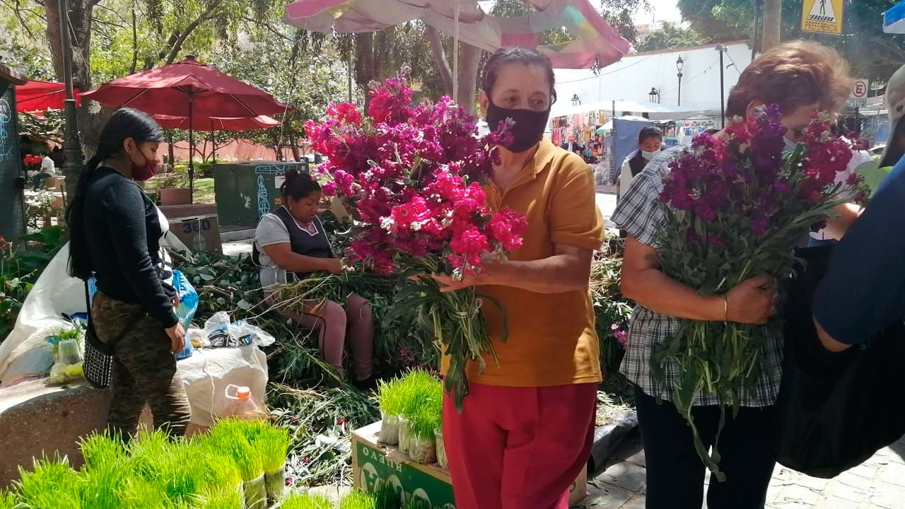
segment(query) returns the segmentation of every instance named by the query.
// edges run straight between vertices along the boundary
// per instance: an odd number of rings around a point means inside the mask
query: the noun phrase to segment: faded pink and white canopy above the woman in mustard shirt
[[[330,34],[375,32],[421,20],[463,43],[493,52],[501,47],[537,48],[554,67],[582,69],[619,61],[632,44],[606,23],[588,0],[525,0],[538,12],[503,17],[484,13],[475,0],[297,0],[286,5],[284,21]],[[458,21],[458,23],[456,23]],[[565,27],[576,39],[539,44],[539,34]]]

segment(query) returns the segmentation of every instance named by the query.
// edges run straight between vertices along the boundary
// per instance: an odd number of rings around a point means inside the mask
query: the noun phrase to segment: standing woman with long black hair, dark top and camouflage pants
[[[163,131],[148,115],[117,110],[100,132],[69,207],[70,274],[97,279],[91,323],[100,341],[116,342],[108,427],[134,437],[146,404],[154,426],[182,436],[189,406],[174,353],[186,331],[176,318],[176,291],[166,282],[159,239],[167,220],[136,181],[151,178]]]

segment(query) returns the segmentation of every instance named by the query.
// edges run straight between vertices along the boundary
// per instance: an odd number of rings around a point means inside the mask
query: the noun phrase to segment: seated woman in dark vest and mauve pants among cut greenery
[[[290,170],[281,187],[284,206],[262,216],[254,233],[252,260],[261,267],[261,285],[269,293],[281,284],[303,279],[311,273],[342,274],[343,266],[333,253],[327,232],[320,224],[320,185],[308,173]],[[269,302],[275,303],[274,297]],[[318,331],[320,353],[345,377],[343,353],[348,331],[355,384],[374,386],[374,315],[364,297],[351,294],[345,303],[310,301],[300,309],[277,311],[293,322]]]

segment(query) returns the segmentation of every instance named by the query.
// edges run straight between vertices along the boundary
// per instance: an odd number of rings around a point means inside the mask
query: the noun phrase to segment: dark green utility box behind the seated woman
[[[286,171],[308,171],[309,163],[248,161],[214,165],[214,195],[221,225],[258,226],[261,216],[282,205]]]

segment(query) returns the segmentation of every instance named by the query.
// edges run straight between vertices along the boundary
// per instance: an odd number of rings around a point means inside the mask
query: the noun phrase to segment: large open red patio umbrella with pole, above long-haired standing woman
[[[129,106],[157,115],[187,117],[188,143],[195,146],[194,119],[199,117],[257,117],[289,110],[271,94],[240,82],[186,55],[182,62],[137,72],[106,82],[81,94],[115,107]],[[191,153],[191,151],[189,152]],[[188,159],[189,189],[194,188],[195,165]]]

